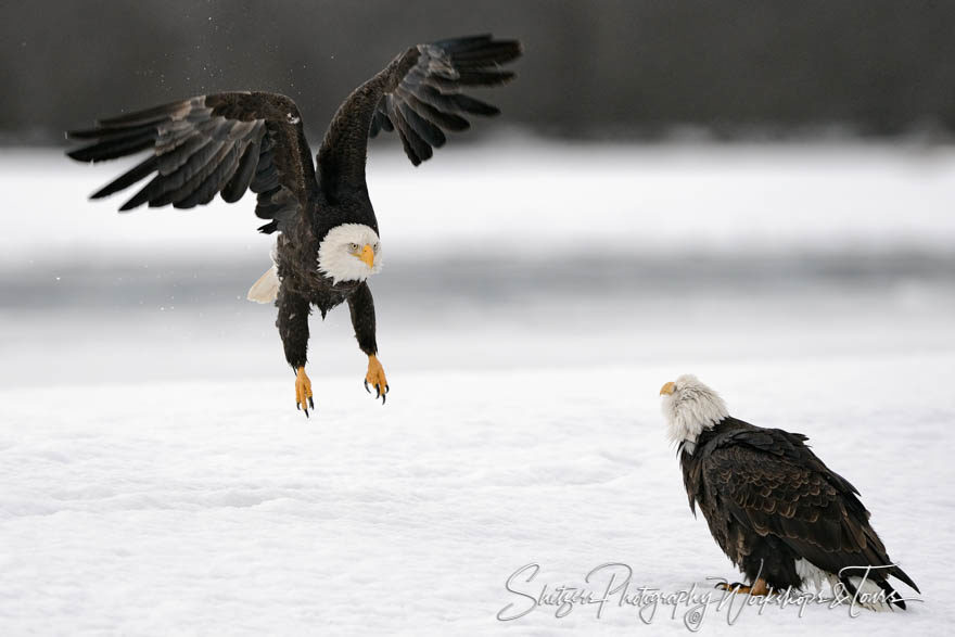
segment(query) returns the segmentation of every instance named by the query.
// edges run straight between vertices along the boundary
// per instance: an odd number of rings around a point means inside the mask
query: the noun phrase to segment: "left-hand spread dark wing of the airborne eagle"
[[[315,167],[295,103],[275,93],[199,95],[103,119],[67,133],[87,142],[67,154],[102,162],[149,150],[129,171],[92,194],[100,199],[154,175],[119,208],[142,204],[191,208],[217,193],[235,202],[258,194],[255,214],[270,219],[259,230],[288,230],[316,188]]]

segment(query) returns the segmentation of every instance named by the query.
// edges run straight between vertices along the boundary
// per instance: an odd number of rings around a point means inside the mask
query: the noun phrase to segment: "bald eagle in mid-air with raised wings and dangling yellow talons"
[[[308,316],[322,318],[348,303],[361,352],[368,356],[369,384],[382,404],[389,393],[377,358],[374,305],[367,279],[382,267],[374,209],[365,182],[368,138],[398,131],[413,165],[444,145],[445,131],[470,127],[468,115],[499,111],[461,93],[463,87],[497,86],[514,74],[500,67],[521,54],[514,40],[489,35],[441,40],[404,51],[355,89],[335,113],[311,163],[295,103],[263,92],[199,95],[68,132],[87,145],[67,153],[80,162],[101,162],[149,150],[149,156],[91,199],[124,190],[154,175],[119,208],[142,204],[191,208],[218,193],[235,202],[246,190],[257,195],[255,214],[279,232],[273,266],[250,290],[252,301],[275,301],[276,326],[285,359],[296,373],[295,405],[315,407],[305,373]]]

